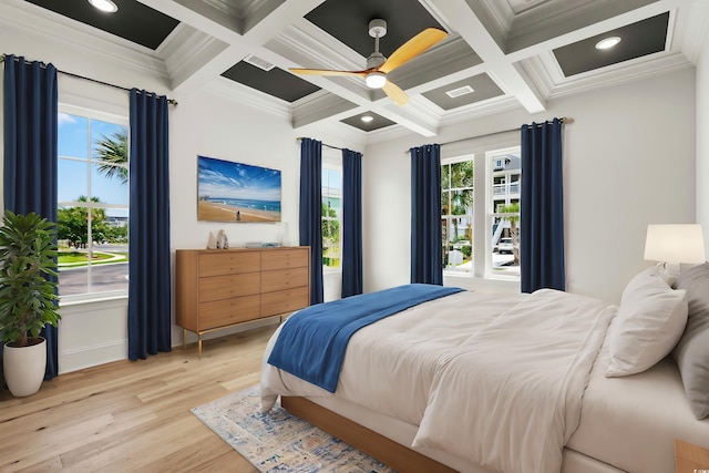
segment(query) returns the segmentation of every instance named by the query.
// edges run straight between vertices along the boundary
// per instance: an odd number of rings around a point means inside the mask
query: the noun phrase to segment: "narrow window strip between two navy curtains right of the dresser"
[[[342,168],[322,163],[322,267],[340,270],[342,227]]]

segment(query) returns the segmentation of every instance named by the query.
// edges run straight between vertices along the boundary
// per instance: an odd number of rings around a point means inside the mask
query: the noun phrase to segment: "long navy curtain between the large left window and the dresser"
[[[167,97],[131,91],[129,358],[171,350]]]

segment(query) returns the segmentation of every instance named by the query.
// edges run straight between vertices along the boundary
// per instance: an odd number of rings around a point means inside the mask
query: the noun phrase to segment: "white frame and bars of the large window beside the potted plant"
[[[76,105],[71,105],[71,104],[66,104],[66,103],[59,103],[59,110],[58,110],[59,114],[66,114],[66,115],[73,115],[73,116],[80,116],[82,119],[86,119],[90,121],[90,123],[92,121],[99,121],[99,122],[105,122],[105,123],[111,123],[111,124],[115,124],[119,126],[124,126],[129,133],[129,147],[130,147],[130,119],[129,116],[122,116],[122,115],[116,115],[116,114],[112,114],[112,113],[107,113],[107,112],[102,112],[99,110],[93,110],[93,109],[86,109],[83,106],[76,106]],[[89,138],[91,138],[91,125],[89,125]],[[59,143],[58,143],[59,144]],[[88,161],[84,161],[83,158],[78,158],[74,156],[63,156],[63,155],[59,155],[56,156],[58,160],[58,164],[59,164],[59,160],[68,160],[68,161],[76,161],[76,162],[88,162],[89,166],[88,166],[88,174],[86,174],[86,191],[88,191],[88,196],[91,196],[91,173],[92,173],[92,156],[90,156],[90,158]],[[130,160],[130,157],[129,157]],[[129,177],[130,178],[130,177]],[[129,189],[130,189],[130,182],[129,182]],[[122,204],[111,204],[111,203],[101,203],[100,206],[93,206],[91,205],[91,203],[78,203],[78,202],[60,202],[59,200],[59,196],[56,197],[56,207],[58,209],[63,207],[63,206],[71,206],[71,207],[83,207],[83,208],[105,208],[105,209],[110,209],[110,208],[116,208],[116,209],[125,209],[126,213],[129,214],[129,225],[130,225],[130,191],[129,191],[129,195],[126,196],[126,204],[122,205]],[[89,212],[89,215],[91,215],[91,212]],[[91,235],[91,226],[88,229],[89,232],[89,236]],[[93,239],[93,238],[92,238]],[[89,241],[90,245],[93,245],[93,241]],[[130,259],[129,259],[130,261]],[[130,264],[130,263],[129,263]],[[93,265],[95,266],[95,265]],[[91,287],[91,271],[92,271],[92,266],[88,265],[88,286],[86,288],[89,289]],[[72,295],[59,295],[60,298],[60,304],[64,305],[64,306],[70,306],[70,305],[76,305],[76,304],[82,304],[82,302],[90,302],[90,301],[96,301],[96,300],[112,300],[112,299],[125,299],[129,296],[129,289],[127,287],[125,289],[116,289],[116,290],[103,290],[103,291],[90,291],[90,292],[82,292],[82,294],[72,294]]]

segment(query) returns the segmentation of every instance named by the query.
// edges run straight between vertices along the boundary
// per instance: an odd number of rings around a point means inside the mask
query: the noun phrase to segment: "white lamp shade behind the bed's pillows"
[[[648,225],[645,259],[667,263],[705,263],[701,225]]]

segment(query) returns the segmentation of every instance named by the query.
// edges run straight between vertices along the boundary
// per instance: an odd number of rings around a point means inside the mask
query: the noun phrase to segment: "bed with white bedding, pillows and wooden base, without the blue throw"
[[[354,331],[336,389],[268,362],[289,319],[266,349],[261,409],[280,399],[405,472],[670,472],[675,439],[709,448],[708,281],[709,264],[676,289],[648,268],[619,306],[438,297]]]

